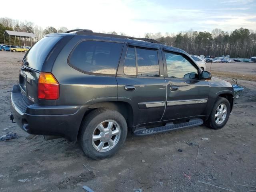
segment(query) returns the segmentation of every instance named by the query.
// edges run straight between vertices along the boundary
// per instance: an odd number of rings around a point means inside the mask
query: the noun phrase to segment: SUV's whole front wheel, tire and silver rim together
[[[228,122],[230,103],[226,98],[218,97],[208,119],[208,126],[212,129],[221,129]]]

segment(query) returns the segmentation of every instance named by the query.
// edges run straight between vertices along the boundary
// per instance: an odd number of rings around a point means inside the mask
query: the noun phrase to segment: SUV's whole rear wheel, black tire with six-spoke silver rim
[[[119,112],[96,109],[85,117],[79,140],[86,156],[100,160],[114,155],[127,136],[126,120]]]

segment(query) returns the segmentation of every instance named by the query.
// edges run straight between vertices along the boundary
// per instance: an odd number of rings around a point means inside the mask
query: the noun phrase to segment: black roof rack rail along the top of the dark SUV
[[[121,39],[132,39],[132,40],[141,40],[151,43],[158,43],[162,44],[162,42],[159,42],[154,39],[149,38],[136,38],[136,37],[130,37],[130,36],[123,36],[123,35],[114,35],[114,34],[106,34],[106,33],[94,33],[92,30],[83,30],[83,29],[76,29],[76,30],[70,30],[70,31],[76,31],[76,34],[78,35],[93,35],[93,36],[102,36],[102,37],[112,37],[112,38],[121,38]]]

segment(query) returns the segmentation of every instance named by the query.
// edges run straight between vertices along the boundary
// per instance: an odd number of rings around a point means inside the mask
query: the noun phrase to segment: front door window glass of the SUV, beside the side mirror
[[[194,74],[195,77],[198,76],[197,69],[183,56],[169,52],[164,52],[164,54],[168,77],[186,78],[187,74]]]

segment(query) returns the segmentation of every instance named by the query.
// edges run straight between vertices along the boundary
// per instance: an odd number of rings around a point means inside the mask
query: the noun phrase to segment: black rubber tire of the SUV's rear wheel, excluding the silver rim
[[[105,152],[100,152],[96,150],[92,144],[92,135],[95,131],[95,128],[101,123],[106,120],[114,120],[119,124],[120,127],[120,137],[119,140],[116,142],[116,145]],[[81,125],[81,131],[79,135],[79,142],[82,146],[82,149],[86,156],[100,160],[104,158],[108,158],[114,155],[124,144],[127,136],[127,123],[125,118],[119,112],[115,110],[110,110],[106,108],[100,108],[93,110],[88,114]]]

